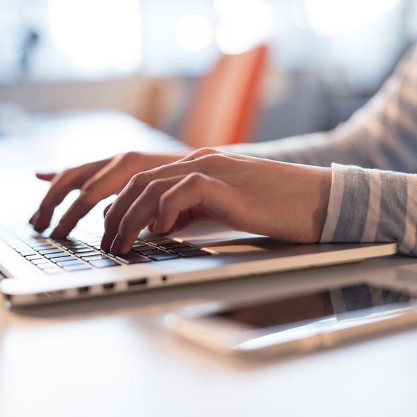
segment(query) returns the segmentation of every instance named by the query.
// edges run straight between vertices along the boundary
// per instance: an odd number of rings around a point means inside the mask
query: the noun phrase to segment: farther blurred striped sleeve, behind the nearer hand
[[[415,172],[417,167],[417,49],[411,49],[368,104],[329,132],[221,147],[277,161]]]

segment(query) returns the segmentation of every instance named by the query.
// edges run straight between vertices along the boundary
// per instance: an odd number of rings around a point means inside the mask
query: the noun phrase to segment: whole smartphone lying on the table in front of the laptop
[[[165,316],[177,335],[225,354],[310,352],[417,322],[417,292],[358,283],[275,300],[190,306]]]

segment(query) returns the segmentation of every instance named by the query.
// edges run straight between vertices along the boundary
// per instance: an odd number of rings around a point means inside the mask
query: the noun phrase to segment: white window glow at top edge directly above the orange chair
[[[249,51],[272,31],[273,13],[265,0],[215,0],[214,6],[219,19],[215,40],[224,54]]]

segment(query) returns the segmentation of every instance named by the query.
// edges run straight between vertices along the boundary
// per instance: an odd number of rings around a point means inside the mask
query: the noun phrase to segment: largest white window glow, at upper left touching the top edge
[[[49,0],[51,38],[80,70],[129,73],[142,61],[138,0]]]

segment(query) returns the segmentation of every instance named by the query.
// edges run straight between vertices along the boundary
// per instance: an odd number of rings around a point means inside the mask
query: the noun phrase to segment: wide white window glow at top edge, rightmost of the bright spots
[[[304,0],[309,26],[320,35],[349,31],[393,8],[400,0]]]

